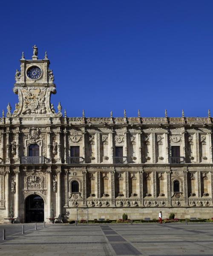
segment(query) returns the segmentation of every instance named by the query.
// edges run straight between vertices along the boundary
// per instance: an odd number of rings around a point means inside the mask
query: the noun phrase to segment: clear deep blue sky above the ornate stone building
[[[36,44],[68,116],[213,115],[213,0],[2,1],[0,38],[0,109]]]

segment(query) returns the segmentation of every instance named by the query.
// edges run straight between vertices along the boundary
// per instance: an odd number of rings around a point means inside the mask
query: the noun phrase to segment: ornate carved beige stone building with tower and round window
[[[0,118],[0,221],[212,216],[213,120],[67,117],[49,59],[20,59],[19,102]]]

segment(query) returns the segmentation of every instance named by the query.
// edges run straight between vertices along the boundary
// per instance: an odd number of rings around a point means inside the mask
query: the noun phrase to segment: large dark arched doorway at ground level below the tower
[[[44,221],[44,201],[40,195],[29,195],[25,200],[25,221]]]

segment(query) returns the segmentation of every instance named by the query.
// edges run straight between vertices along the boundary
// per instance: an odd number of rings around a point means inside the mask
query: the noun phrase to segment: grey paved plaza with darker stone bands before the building
[[[21,226],[0,225],[0,256],[213,256],[213,223]]]

